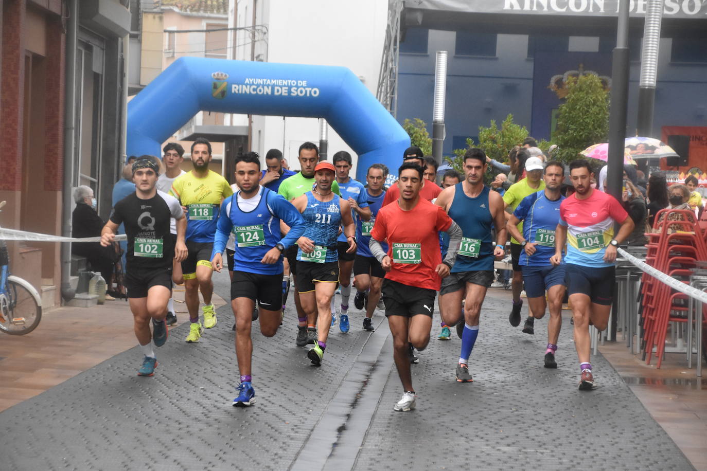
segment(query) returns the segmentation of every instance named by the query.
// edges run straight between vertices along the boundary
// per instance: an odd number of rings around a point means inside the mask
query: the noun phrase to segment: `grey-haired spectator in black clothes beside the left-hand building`
[[[93,189],[85,185],[77,186],[74,189],[74,201],[76,201],[76,208],[71,215],[72,236],[100,237],[105,222],[95,211]],[[118,260],[114,245],[103,247],[100,242],[76,242],[71,244],[71,253],[86,257],[91,270],[103,276],[108,289],[112,287],[113,267]],[[106,295],[105,299],[112,301],[115,298]]]

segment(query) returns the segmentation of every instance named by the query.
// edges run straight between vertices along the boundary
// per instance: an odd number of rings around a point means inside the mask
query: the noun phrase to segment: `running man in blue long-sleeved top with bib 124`
[[[233,280],[230,305],[235,316],[235,355],[238,358],[240,386],[236,407],[255,403],[252,387],[250,338],[252,312],[259,306],[260,331],[272,337],[282,320],[282,254],[304,232],[299,211],[282,196],[258,184],[260,160],[255,152],[235,157],[235,184],[238,191],[221,204],[216,227],[211,265],[221,272],[223,249],[231,233],[235,235]],[[280,220],[290,227],[280,237]]]

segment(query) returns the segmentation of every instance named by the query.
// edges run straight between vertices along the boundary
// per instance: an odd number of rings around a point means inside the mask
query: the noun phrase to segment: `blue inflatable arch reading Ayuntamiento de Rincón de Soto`
[[[374,163],[397,173],[410,145],[348,68],[181,57],[128,103],[127,155],[161,155],[199,111],[325,118],[358,154],[359,180]]]

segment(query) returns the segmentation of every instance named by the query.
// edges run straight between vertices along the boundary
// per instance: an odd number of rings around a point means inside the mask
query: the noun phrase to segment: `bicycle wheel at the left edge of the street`
[[[42,307],[27,288],[8,280],[6,293],[0,294],[0,330],[10,335],[30,333],[40,323]]]

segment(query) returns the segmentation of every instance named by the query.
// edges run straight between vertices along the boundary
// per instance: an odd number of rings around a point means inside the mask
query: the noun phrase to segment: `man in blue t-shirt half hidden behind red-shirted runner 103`
[[[378,215],[380,206],[385,198],[383,184],[387,177],[385,165],[373,164],[366,172],[366,183],[368,189],[363,192],[366,196],[368,208],[372,213],[367,221],[360,218],[356,220],[356,260],[354,260],[354,278],[356,280],[356,297],[354,306],[356,309],[366,309],[366,317],[363,318],[363,330],[373,332],[373,311],[378,306],[380,299],[380,285],[385,278],[385,270],[380,266],[380,262],[370,253],[368,243],[370,242],[370,231],[375,224],[375,216]],[[383,244],[383,250],[387,251],[387,244]],[[369,291],[370,290],[370,291]]]

